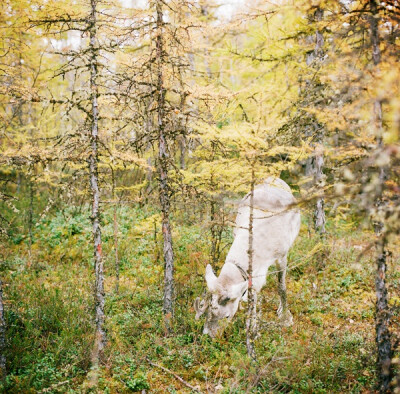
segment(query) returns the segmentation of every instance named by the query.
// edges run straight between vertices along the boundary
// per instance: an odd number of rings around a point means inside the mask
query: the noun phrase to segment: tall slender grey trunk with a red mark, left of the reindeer
[[[95,263],[95,321],[96,337],[93,348],[93,366],[97,367],[101,361],[106,343],[104,331],[104,273],[100,227],[100,189],[98,176],[98,45],[97,45],[97,0],[91,0],[91,13],[89,19],[89,53],[90,53],[90,95],[91,95],[91,151],[89,157],[90,188],[93,196],[92,205],[92,232]]]

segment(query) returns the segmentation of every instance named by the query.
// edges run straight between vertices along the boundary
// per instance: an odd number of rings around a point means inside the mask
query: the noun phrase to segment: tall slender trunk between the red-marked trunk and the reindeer
[[[170,211],[170,185],[169,185],[169,153],[165,132],[165,87],[163,75],[164,42],[163,42],[163,11],[162,2],[156,2],[157,13],[157,120],[158,120],[158,170],[159,170],[159,193],[162,211],[162,234],[164,239],[164,299],[163,313],[164,323],[168,332],[171,331],[172,317],[174,314],[174,252],[172,248]]]

